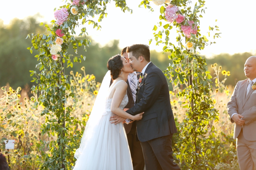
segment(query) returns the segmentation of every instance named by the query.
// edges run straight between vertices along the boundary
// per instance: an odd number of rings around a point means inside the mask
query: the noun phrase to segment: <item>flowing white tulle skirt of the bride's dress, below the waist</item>
[[[107,112],[84,147],[73,170],[132,170],[132,158],[123,123],[111,124]]]

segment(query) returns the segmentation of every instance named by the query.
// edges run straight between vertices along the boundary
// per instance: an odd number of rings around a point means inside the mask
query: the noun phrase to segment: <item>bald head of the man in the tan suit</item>
[[[244,74],[250,80],[256,78],[256,56],[250,56],[244,64]]]

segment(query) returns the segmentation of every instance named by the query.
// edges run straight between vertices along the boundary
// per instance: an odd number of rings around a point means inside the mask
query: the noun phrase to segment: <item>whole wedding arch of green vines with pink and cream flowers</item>
[[[32,33],[32,47],[39,51],[35,57],[38,58],[37,73],[30,70],[31,76],[36,75],[32,82],[37,85],[32,87],[34,92],[40,92],[35,101],[35,107],[44,106],[41,115],[46,116],[46,122],[42,124],[43,134],[57,134],[57,138],[50,143],[40,141],[38,149],[47,147],[52,155],[42,153],[38,155],[40,169],[71,169],[74,165],[74,151],[78,148],[77,142],[82,134],[73,135],[72,127],[80,124],[80,120],[71,117],[70,112],[76,107],[74,87],[69,84],[68,75],[64,74],[64,63],[67,67],[73,67],[73,62],[85,60],[85,56],[73,56],[67,54],[67,49],[72,47],[77,54],[77,47],[84,46],[84,49],[91,43],[86,39],[86,27],[81,29],[80,37],[76,39],[75,28],[84,25],[86,22],[93,25],[93,28],[100,29],[100,22],[107,16],[106,4],[109,0],[71,0],[67,5],[55,9],[52,26],[45,24],[47,34]],[[132,10],[127,6],[125,0],[113,0],[116,7],[121,10]],[[138,2],[139,3],[139,2]],[[213,107],[210,98],[211,75],[207,69],[204,59],[197,52],[202,50],[209,42],[206,36],[200,34],[199,18],[203,17],[205,1],[198,0],[192,8],[191,0],[143,0],[139,6],[144,6],[154,11],[151,3],[161,5],[159,22],[154,26],[154,40],[156,45],[163,44],[163,51],[169,54],[172,64],[164,71],[167,78],[175,85],[185,84],[187,87],[177,93],[177,97],[185,98],[188,102],[183,107],[188,108],[186,117],[180,124],[180,138],[177,143],[179,152],[176,153],[180,165],[190,169],[212,169],[216,163],[217,148],[212,146],[214,127],[207,129],[209,121],[217,119],[218,112]],[[98,17],[98,21],[88,19]],[[166,23],[166,24],[163,24]],[[43,23],[40,24],[43,26]],[[175,46],[169,40],[169,34],[173,27],[176,27],[178,36]],[[158,30],[158,31],[157,31]],[[209,26],[210,31],[219,31],[218,26]],[[214,32],[213,32],[214,33]],[[212,34],[212,33],[211,33]],[[208,32],[210,37],[210,32]],[[214,33],[213,38],[220,37],[220,33]],[[149,44],[152,39],[149,41]],[[69,95],[66,90],[70,90]],[[65,107],[65,100],[73,98],[74,106]]]

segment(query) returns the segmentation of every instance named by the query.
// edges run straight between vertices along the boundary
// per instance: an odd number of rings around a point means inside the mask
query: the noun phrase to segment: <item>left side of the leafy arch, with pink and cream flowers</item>
[[[116,7],[120,7],[122,11],[131,11],[123,0],[115,0]],[[76,131],[73,134],[74,128],[77,124],[84,121],[72,117],[71,112],[76,107],[76,96],[74,93],[75,87],[69,84],[72,77],[65,75],[64,64],[67,67],[73,67],[73,62],[81,63],[81,59],[85,60],[85,56],[68,55],[67,50],[70,46],[77,54],[77,47],[84,46],[84,50],[91,44],[91,41],[86,39],[86,27],[81,29],[80,37],[84,36],[84,40],[76,39],[74,36],[75,28],[79,25],[84,25],[86,22],[92,25],[93,28],[100,29],[100,22],[106,13],[106,4],[108,0],[74,0],[67,5],[61,6],[62,14],[67,15],[62,19],[62,22],[52,20],[52,26],[45,24],[47,28],[46,33],[31,33],[28,37],[32,36],[32,47],[28,49],[33,52],[33,48],[39,51],[35,57],[40,63],[36,65],[39,70],[37,73],[30,70],[30,76],[33,76],[31,82],[36,82],[37,85],[32,87],[32,91],[39,93],[38,99],[34,107],[39,105],[44,106],[41,112],[42,116],[46,117],[45,123],[41,125],[42,135],[47,134],[52,136],[55,140],[46,142],[40,140],[37,147],[41,151],[41,155],[37,156],[40,169],[71,169],[75,163],[74,152],[78,148],[78,142],[81,138],[81,132]],[[72,11],[73,10],[73,11]],[[98,17],[95,22],[92,19]],[[64,20],[64,21],[63,21]],[[40,24],[42,26],[43,23]],[[56,52],[57,51],[57,52]],[[81,57],[81,58],[80,58]],[[70,91],[67,94],[67,91]],[[68,98],[73,98],[73,106],[66,106]],[[52,154],[44,152],[48,148]]]

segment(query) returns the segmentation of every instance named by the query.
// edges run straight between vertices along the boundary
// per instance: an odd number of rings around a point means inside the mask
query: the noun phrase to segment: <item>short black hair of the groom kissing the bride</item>
[[[149,46],[145,44],[134,44],[126,49],[127,53],[132,52],[132,55],[138,60],[139,56],[145,58],[147,62],[150,62],[150,50]]]

